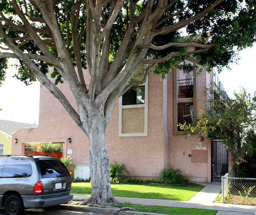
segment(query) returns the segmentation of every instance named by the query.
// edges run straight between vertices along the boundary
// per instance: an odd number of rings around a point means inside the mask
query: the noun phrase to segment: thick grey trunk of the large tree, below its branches
[[[109,159],[106,145],[106,122],[104,108],[93,109],[89,113],[89,162],[91,174],[91,197],[84,204],[107,204],[116,202],[110,187]]]

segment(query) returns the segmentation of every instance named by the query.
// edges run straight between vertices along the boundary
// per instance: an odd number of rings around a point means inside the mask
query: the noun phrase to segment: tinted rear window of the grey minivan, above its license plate
[[[42,178],[69,176],[69,170],[60,160],[37,160]]]

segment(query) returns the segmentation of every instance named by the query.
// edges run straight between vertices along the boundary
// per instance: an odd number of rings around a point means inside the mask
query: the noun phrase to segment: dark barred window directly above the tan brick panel
[[[122,96],[122,105],[145,104],[145,86],[129,89]]]

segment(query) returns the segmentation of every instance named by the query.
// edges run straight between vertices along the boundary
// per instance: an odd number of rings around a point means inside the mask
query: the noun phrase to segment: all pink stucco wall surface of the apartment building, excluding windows
[[[197,135],[185,139],[183,135],[174,135],[174,71],[164,81],[160,76],[150,73],[148,77],[148,135],[142,137],[119,137],[119,100],[106,129],[110,163],[117,161],[126,164],[130,177],[157,177],[161,169],[172,166],[183,171],[190,181],[211,181],[211,141],[199,140]],[[86,77],[86,74],[85,74]],[[88,75],[87,75],[87,78]],[[211,74],[205,71],[196,78],[197,88],[194,94],[195,111],[200,111],[204,99],[204,87],[211,80]],[[74,108],[76,104],[69,88],[58,86]],[[197,98],[197,99],[196,99]],[[71,144],[68,138],[72,139]],[[18,143],[12,143],[12,153],[24,153],[25,142],[63,142],[63,156],[73,158],[74,164],[89,166],[89,140],[74,123],[60,102],[50,92],[41,87],[39,127],[28,131],[20,129],[13,134]],[[196,149],[201,142],[202,149]],[[72,149],[72,154],[67,150]],[[201,154],[198,151],[203,151]],[[183,153],[186,152],[186,155]],[[189,157],[191,154],[191,157]],[[202,155],[202,161],[193,161],[193,156]],[[205,159],[206,155],[206,159]]]

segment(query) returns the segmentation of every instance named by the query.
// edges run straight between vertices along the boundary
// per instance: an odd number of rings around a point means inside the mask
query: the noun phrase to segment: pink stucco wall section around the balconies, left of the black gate
[[[189,181],[211,182],[211,140],[204,138],[204,140],[201,141],[198,139],[197,135],[191,135],[186,139],[186,133],[184,131],[175,131],[177,128],[175,117],[177,114],[175,110],[175,108],[177,108],[177,106],[175,106],[177,98],[175,99],[175,97],[177,95],[174,90],[174,87],[176,87],[174,81],[178,78],[175,78],[174,75],[176,75],[176,73],[172,70],[171,75],[167,77],[167,106],[169,107],[169,109],[167,109],[168,166],[174,169],[180,169],[182,175],[184,175],[186,179],[189,179]],[[206,71],[194,77],[194,114],[200,112],[204,104],[204,89],[206,84],[210,83],[210,80],[211,74],[206,73]],[[196,148],[197,142],[201,142],[202,149]],[[186,155],[184,155],[184,153]],[[191,157],[189,157],[189,155],[191,155]],[[207,157],[205,157],[205,155]],[[202,157],[202,159],[198,159],[197,162],[195,162],[193,156]]]

